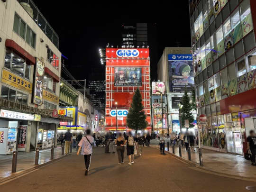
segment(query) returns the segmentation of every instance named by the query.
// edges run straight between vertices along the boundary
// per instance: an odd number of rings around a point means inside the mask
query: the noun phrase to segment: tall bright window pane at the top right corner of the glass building
[[[241,24],[243,37],[245,37],[250,31],[253,30],[253,22],[250,9],[250,0],[243,0],[240,4],[241,10]]]

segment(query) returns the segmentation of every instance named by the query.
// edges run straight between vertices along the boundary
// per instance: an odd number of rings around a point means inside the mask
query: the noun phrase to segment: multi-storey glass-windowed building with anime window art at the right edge
[[[203,147],[242,155],[256,128],[256,0],[189,0]]]

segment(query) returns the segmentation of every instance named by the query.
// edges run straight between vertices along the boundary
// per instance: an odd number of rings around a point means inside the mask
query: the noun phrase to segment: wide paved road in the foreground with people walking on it
[[[54,164],[0,186],[1,192],[249,192],[255,182],[230,179],[189,168],[153,147],[135,164],[118,165],[116,154],[95,148],[91,171],[84,176],[83,157],[68,156]]]

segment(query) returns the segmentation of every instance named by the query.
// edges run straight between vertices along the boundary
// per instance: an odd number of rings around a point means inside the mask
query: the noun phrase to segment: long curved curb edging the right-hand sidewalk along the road
[[[151,146],[152,147],[152,146]],[[153,146],[153,148],[157,148],[157,146]],[[169,155],[172,155],[174,156],[176,159],[182,161],[183,163],[186,163],[186,164],[189,164],[189,165],[192,165],[193,167],[197,168],[197,169],[200,169],[198,171],[204,171],[204,172],[208,172],[209,174],[218,174],[220,176],[223,176],[223,177],[228,177],[228,178],[232,178],[232,179],[239,179],[239,180],[245,180],[245,181],[253,181],[253,182],[256,182],[256,178],[252,178],[252,177],[244,177],[244,176],[236,176],[236,175],[233,175],[233,174],[224,174],[222,172],[217,172],[217,171],[212,171],[212,170],[208,170],[206,168],[204,168],[203,166],[200,166],[198,163],[195,163],[195,162],[192,162],[192,161],[189,161],[187,159],[184,159],[180,156],[177,156],[173,153],[171,153],[170,151],[167,151],[167,154]],[[196,170],[196,169],[194,169]]]

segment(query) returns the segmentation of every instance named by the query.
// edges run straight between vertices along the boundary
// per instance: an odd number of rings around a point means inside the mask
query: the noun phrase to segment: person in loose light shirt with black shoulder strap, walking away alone
[[[91,129],[86,129],[86,135],[82,137],[78,146],[79,149],[76,155],[79,155],[79,152],[82,148],[81,155],[84,157],[85,164],[85,175],[88,175],[88,171],[91,165],[91,155],[92,155],[92,145],[96,146],[94,138],[91,136]]]

